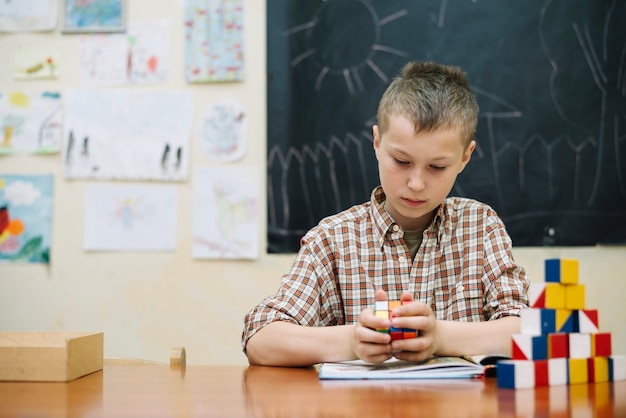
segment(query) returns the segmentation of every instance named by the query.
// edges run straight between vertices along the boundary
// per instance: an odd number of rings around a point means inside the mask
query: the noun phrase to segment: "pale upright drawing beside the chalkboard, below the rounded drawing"
[[[193,194],[193,258],[258,257],[258,175],[249,167],[199,168]]]

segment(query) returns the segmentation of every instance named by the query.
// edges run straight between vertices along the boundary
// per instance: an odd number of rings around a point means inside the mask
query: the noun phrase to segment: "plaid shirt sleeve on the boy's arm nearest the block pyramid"
[[[529,279],[513,259],[512,242],[502,220],[491,210],[486,222],[485,317],[489,320],[519,316],[528,307]]]

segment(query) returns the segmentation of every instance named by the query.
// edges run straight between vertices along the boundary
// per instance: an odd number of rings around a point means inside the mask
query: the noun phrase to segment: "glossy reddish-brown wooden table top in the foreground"
[[[105,366],[0,382],[0,417],[624,417],[626,382],[498,389],[494,378],[320,381],[315,369]]]

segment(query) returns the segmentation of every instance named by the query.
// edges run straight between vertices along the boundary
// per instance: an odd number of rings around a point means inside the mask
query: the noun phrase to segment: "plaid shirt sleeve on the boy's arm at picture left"
[[[303,326],[338,325],[343,308],[333,274],[330,240],[315,231],[303,239],[291,270],[282,277],[276,294],[254,307],[244,318],[243,350],[261,328],[275,321]]]

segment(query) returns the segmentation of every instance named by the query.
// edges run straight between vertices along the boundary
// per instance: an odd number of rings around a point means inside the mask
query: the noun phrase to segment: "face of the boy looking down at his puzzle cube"
[[[424,229],[448,196],[476,143],[465,148],[459,129],[415,133],[411,121],[394,116],[381,137],[374,126],[378,175],[385,209],[403,229]]]

